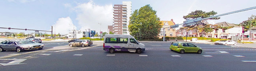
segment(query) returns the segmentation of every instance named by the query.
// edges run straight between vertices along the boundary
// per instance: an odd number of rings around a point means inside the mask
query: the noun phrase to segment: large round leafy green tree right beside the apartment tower
[[[129,32],[132,36],[141,39],[156,39],[162,27],[160,18],[150,5],[135,10],[130,17]]]

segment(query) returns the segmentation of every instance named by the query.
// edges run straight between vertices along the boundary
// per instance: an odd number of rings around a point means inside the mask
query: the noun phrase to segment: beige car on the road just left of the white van
[[[73,46],[81,46],[81,47],[85,47],[85,46],[90,46],[92,45],[92,41],[90,40],[77,40],[77,41],[74,41],[74,42],[71,42],[69,43],[69,46],[70,47],[73,47]]]

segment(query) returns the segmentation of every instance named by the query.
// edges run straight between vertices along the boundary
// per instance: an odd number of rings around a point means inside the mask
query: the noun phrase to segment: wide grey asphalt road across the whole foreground
[[[60,43],[60,44],[58,44]],[[19,53],[1,58],[1,71],[255,71],[256,48],[239,45],[212,45],[194,43],[202,47],[202,54],[178,52],[168,49],[170,43],[144,43],[141,54],[116,52],[110,54],[103,46],[71,47],[67,43],[45,43],[45,50]],[[254,47],[254,46],[252,46]],[[0,52],[14,54],[17,52]],[[17,60],[17,59],[24,59]],[[17,60],[17,62],[14,62]],[[11,62],[18,65],[7,65]],[[20,64],[19,64],[20,62]]]

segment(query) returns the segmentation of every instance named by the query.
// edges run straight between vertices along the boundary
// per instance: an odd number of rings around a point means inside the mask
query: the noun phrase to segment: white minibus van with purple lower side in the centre
[[[145,51],[145,45],[136,41],[131,35],[106,34],[103,43],[103,50],[110,53],[115,51],[129,51],[140,54]]]

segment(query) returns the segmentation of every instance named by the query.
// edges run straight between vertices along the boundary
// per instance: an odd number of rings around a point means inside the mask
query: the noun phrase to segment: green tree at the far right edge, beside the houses
[[[241,22],[239,26],[243,26],[244,32],[247,32],[248,30],[250,30],[250,28],[256,26],[256,16],[252,15],[251,17],[248,18],[248,20]]]

